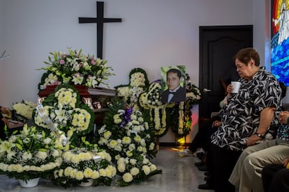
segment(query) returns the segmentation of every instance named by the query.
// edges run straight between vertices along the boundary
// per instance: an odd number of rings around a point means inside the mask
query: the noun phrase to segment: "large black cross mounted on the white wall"
[[[103,17],[103,1],[96,1],[97,17],[78,17],[80,24],[96,23],[97,25],[97,57],[103,58],[103,23],[121,22],[118,18]]]

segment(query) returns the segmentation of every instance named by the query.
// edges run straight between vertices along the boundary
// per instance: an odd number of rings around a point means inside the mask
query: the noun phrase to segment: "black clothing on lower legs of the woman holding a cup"
[[[212,175],[216,192],[235,192],[235,186],[228,179],[241,152],[212,144]]]

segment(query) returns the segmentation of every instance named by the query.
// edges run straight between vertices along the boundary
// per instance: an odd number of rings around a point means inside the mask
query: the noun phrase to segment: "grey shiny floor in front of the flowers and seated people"
[[[38,186],[34,188],[22,188],[17,180],[10,179],[5,175],[0,176],[0,191],[115,191],[115,192],[187,192],[187,191],[202,191],[208,192],[213,190],[200,190],[198,184],[204,182],[204,172],[198,170],[194,163],[200,161],[198,157],[179,157],[177,149],[172,147],[160,147],[156,159],[153,163],[158,169],[162,169],[161,175],[154,175],[144,182],[134,183],[130,186],[117,186],[112,182],[111,186],[75,186],[64,189],[61,186],[55,186],[52,182],[45,179],[40,179]],[[115,179],[114,179],[115,181]]]

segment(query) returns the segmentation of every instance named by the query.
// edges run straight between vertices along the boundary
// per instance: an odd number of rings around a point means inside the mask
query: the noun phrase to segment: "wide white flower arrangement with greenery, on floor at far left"
[[[54,134],[24,125],[20,134],[0,141],[0,174],[24,181],[49,178],[61,165],[62,147]]]

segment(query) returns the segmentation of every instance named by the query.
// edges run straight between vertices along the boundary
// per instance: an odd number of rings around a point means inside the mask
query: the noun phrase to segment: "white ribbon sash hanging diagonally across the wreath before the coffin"
[[[59,141],[61,142],[62,145],[66,145],[68,143],[68,138],[64,135],[63,131],[60,131],[55,125],[54,122],[50,119],[50,117],[45,113],[45,109],[42,104],[38,104],[36,106],[36,110],[38,111],[39,115],[41,118],[43,118],[43,122],[46,123],[47,127],[51,130],[54,131],[55,134],[59,137]]]

